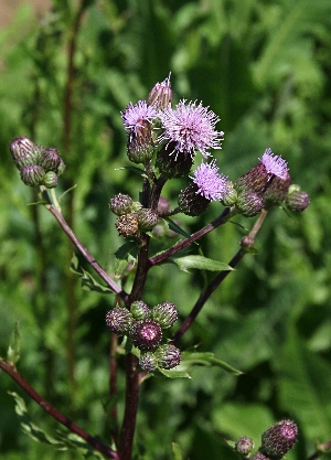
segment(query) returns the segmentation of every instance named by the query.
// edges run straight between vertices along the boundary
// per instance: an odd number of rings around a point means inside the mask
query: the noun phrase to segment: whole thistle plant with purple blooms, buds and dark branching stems
[[[65,154],[61,156],[55,148],[39,146],[25,137],[14,139],[10,146],[22,181],[39,192],[39,204],[58,222],[76,252],[85,258],[103,285],[79,267],[76,267],[75,272],[90,290],[111,291],[116,295],[105,318],[105,334],[110,333],[115,360],[125,356],[126,361],[126,399],[119,430],[113,432],[108,446],[100,442],[45,402],[18,373],[12,362],[1,360],[1,368],[53,418],[105,458],[117,460],[132,458],[140,387],[152,376],[181,378],[189,375],[194,365],[195,352],[183,349],[182,338],[196,321],[196,317],[203,314],[207,299],[223,280],[244,256],[254,252],[255,238],[269,211],[280,206],[287,212],[299,213],[309,205],[309,195],[299,185],[291,183],[286,160],[273,153],[268,147],[264,152],[257,152],[256,160],[252,159],[252,163],[256,164],[249,171],[239,178],[228,178],[226,171],[217,167],[217,161],[222,161],[221,149],[225,138],[224,132],[217,130],[220,118],[209,107],[204,107],[202,101],[181,99],[173,104],[172,100],[168,77],[151,88],[146,100],[130,101],[121,113],[127,132],[127,158],[135,164],[129,170],[139,174],[141,193],[136,196],[132,191],[130,196],[119,190],[115,196],[109,197],[109,212],[116,216],[115,226],[110,231],[118,232],[122,244],[130,246],[126,270],[116,277],[95,260],[62,215],[61,200],[54,189],[64,173]],[[178,199],[171,205],[167,199],[167,184],[175,180],[180,180]],[[185,181],[184,188],[181,188],[182,181]],[[212,202],[218,206],[214,207],[214,220],[195,233],[186,234],[181,225],[181,216],[201,216]],[[177,221],[172,220],[174,215]],[[194,248],[202,236],[235,222],[237,215],[247,217],[247,226],[252,217],[255,221],[227,265],[202,255],[191,255],[189,259],[182,257],[186,269],[214,270],[216,266],[218,271],[212,281],[206,282],[189,314],[183,313],[183,306],[172,303],[172,299],[161,298],[157,304],[147,303],[147,280],[154,267],[173,261],[174,255],[180,260],[180,252],[188,247]],[[173,244],[173,239],[169,238],[169,247],[153,254],[151,242],[160,236],[157,228],[162,225],[180,239]],[[116,248],[113,250],[115,253]],[[127,289],[128,272],[132,284]],[[224,372],[238,374],[237,370],[214,355],[199,354],[199,360],[207,366],[218,365]],[[110,394],[114,395],[117,365],[113,365],[110,372]],[[252,454],[254,441],[246,436],[233,443],[233,449],[245,459],[280,460],[295,446],[297,437],[297,425],[286,419],[263,434],[257,452]]]

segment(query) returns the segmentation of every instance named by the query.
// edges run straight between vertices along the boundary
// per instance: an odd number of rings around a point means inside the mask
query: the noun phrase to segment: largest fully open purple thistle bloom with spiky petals
[[[167,147],[174,143],[170,154],[183,152],[193,158],[195,150],[200,150],[204,157],[209,157],[206,149],[221,149],[224,132],[215,131],[220,118],[209,107],[203,107],[202,103],[199,106],[196,101],[185,103],[185,99],[180,100],[174,109],[169,106],[159,113],[164,132],[158,141],[168,141]]]

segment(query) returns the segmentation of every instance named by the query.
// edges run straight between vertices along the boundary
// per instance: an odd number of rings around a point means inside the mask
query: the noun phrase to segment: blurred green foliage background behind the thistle
[[[54,0],[53,6],[39,23],[22,8],[0,33],[1,355],[20,321],[20,372],[84,429],[109,439],[104,318],[114,298],[83,291],[70,274],[73,249],[45,210],[28,206],[35,196],[21,183],[9,145],[22,135],[61,151],[67,168],[60,189],[77,184],[63,212],[113,274],[122,240],[108,201],[118,192],[138,200],[140,190],[138,175],[115,170],[129,165],[120,110],[145,98],[171,71],[177,100],[203,100],[222,118],[222,172],[235,180],[270,147],[287,159],[311,204],[296,217],[280,208],[270,213],[256,242],[258,254],[231,274],[181,344],[212,351],[244,374],[195,367],[191,381],[148,379],[136,456],[170,459],[175,441],[184,459],[231,460],[236,457],[224,439],[246,435],[258,446],[268,426],[293,418],[300,438],[287,458],[307,459],[316,441],[331,437],[331,2],[88,1],[75,54],[70,150],[64,150],[64,97],[78,4]],[[185,181],[172,182],[164,194],[174,204]],[[218,212],[213,205],[201,220],[184,217],[181,225],[193,232]],[[236,222],[253,225],[253,220]],[[201,248],[228,263],[243,235],[227,224],[203,238]],[[156,268],[145,300],[172,301],[183,318],[204,276],[212,275]],[[81,458],[22,435],[8,389],[20,393],[1,373],[1,458]],[[55,434],[57,424],[28,398],[26,404],[32,420]]]

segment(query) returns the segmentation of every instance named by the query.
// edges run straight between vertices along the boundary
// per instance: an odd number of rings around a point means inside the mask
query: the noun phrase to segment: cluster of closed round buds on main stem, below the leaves
[[[139,364],[143,371],[172,368],[180,364],[180,350],[170,344],[161,344],[162,330],[171,328],[178,319],[173,303],[162,302],[149,308],[142,300],[131,303],[130,310],[116,307],[108,311],[106,324],[110,331],[126,335],[140,350]]]

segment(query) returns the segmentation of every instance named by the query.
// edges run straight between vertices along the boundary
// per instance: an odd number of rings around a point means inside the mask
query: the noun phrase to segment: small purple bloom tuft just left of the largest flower
[[[145,126],[143,121],[152,122],[157,117],[157,108],[154,106],[148,106],[146,100],[138,100],[135,105],[130,103],[120,115],[126,131],[130,136],[137,136],[139,129]]]

